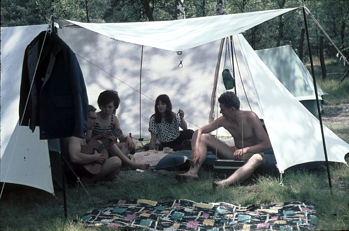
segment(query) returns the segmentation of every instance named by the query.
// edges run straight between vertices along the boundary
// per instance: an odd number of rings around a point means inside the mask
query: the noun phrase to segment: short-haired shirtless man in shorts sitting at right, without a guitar
[[[222,141],[217,141],[217,156],[222,159],[243,160],[245,164],[236,170],[228,179],[214,181],[213,187],[224,187],[247,179],[253,172],[265,166],[263,151],[272,148],[258,116],[251,111],[240,110],[240,100],[233,92],[225,92],[219,98],[223,115],[210,124],[195,131],[192,138],[191,167],[185,174],[177,174],[178,181],[198,180],[198,171],[207,156],[207,148],[216,149],[216,138],[211,136],[219,127],[224,127],[232,135],[236,147],[230,147]]]

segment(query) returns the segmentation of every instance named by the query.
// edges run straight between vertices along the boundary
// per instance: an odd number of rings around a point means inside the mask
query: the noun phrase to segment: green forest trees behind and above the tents
[[[73,21],[91,23],[146,22],[177,20],[221,14],[292,8],[305,5],[319,21],[334,44],[349,58],[349,1],[322,0],[2,0],[1,27],[46,24],[53,15]],[[309,16],[308,16],[309,18]],[[308,20],[311,50],[319,55],[320,37],[324,33]],[[301,10],[292,11],[245,32],[255,50],[292,45],[298,54],[304,28]],[[303,36],[302,36],[303,37]],[[307,62],[308,49],[304,49]],[[338,52],[325,38],[325,57]]]

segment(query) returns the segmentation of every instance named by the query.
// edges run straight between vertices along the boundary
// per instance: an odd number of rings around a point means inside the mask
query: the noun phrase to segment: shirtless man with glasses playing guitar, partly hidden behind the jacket
[[[89,115],[87,120],[87,129],[93,129],[94,126],[97,124],[97,114],[96,114],[96,108],[94,106],[89,105]],[[113,146],[115,144],[116,138],[114,136],[109,137],[109,139],[112,141],[108,147],[106,147],[106,150],[109,152],[109,147]],[[77,173],[78,176],[81,177],[81,182],[83,184],[91,184],[97,181],[103,181],[103,180],[111,180],[113,179],[120,170],[121,167],[121,160],[116,157],[103,157],[103,154],[98,153],[96,150],[94,151],[94,154],[83,154],[81,152],[81,146],[86,145],[86,139],[82,139],[79,137],[71,136],[63,139],[63,145],[64,149],[68,151],[69,164],[72,165],[73,170]],[[101,141],[99,143],[102,144]],[[89,164],[92,162],[96,162],[99,164],[102,164],[101,172],[93,176],[92,178],[87,178],[84,176],[83,172],[81,171],[82,164]]]

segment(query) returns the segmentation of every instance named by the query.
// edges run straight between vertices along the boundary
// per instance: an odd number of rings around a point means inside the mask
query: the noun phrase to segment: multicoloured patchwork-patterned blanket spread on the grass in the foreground
[[[154,231],[292,231],[312,230],[317,223],[314,206],[302,202],[257,206],[246,211],[249,206],[190,200],[111,200],[105,206],[89,211],[80,221],[88,226]]]

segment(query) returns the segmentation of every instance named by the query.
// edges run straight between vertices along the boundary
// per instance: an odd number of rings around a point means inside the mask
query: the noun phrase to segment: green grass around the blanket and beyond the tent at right
[[[347,68],[347,66],[346,66]],[[344,68],[336,60],[327,61],[328,73],[341,73]],[[349,142],[348,114],[340,104],[349,103],[349,78],[339,83],[340,74],[328,75],[321,80],[321,68],[315,60],[315,74],[325,96],[324,115],[340,115],[342,120],[325,120],[341,139]],[[349,162],[349,157],[346,158]],[[188,199],[202,202],[228,202],[239,204],[273,204],[302,201],[315,206],[318,224],[316,230],[349,230],[349,167],[344,164],[330,166],[332,193],[328,187],[325,169],[318,171],[292,171],[283,175],[284,187],[279,185],[279,175],[269,174],[255,178],[250,183],[212,190],[214,174],[200,170],[200,181],[178,183],[174,172],[157,171],[155,179],[119,179],[99,186],[81,186],[67,191],[68,219],[64,217],[63,195],[52,195],[36,188],[9,184],[1,198],[0,230],[110,230],[105,227],[86,228],[73,224],[87,211],[102,206],[112,199],[148,199],[170,201]]]

